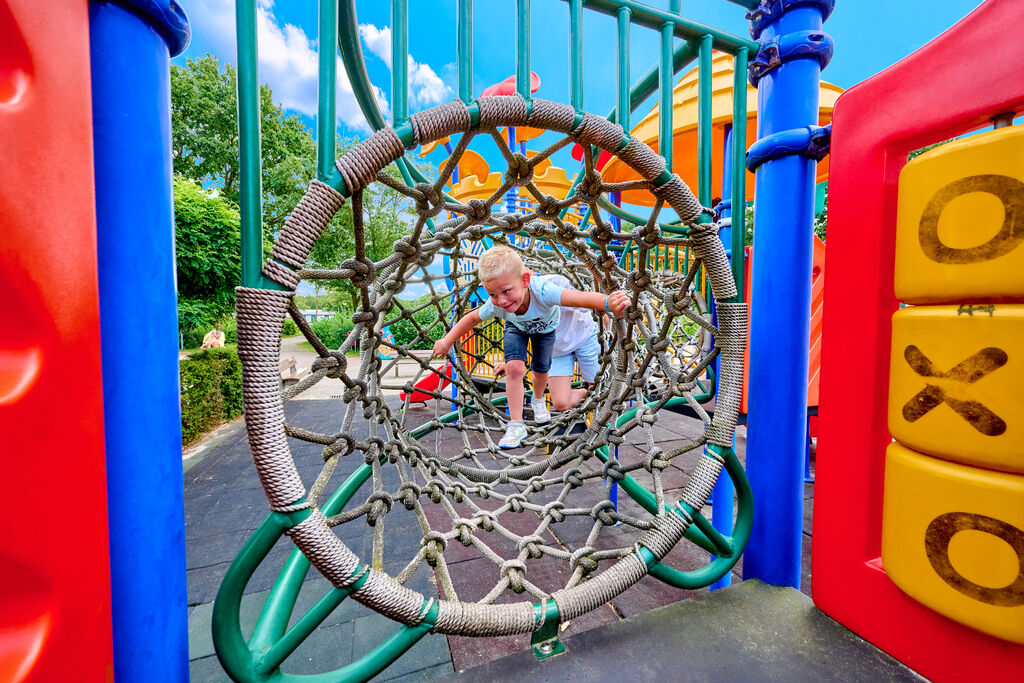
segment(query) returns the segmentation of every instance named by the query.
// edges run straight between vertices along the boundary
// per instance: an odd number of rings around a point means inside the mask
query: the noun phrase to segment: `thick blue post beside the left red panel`
[[[176,0],[91,2],[114,677],[187,681],[170,56]]]

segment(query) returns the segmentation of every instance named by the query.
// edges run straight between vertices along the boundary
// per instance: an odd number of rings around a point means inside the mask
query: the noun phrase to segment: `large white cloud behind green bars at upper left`
[[[259,77],[273,91],[274,99],[285,109],[316,116],[317,57],[315,40],[301,27],[281,26],[272,13],[273,0],[259,0],[256,30],[259,44]],[[194,0],[188,4],[189,23],[198,35],[212,46],[222,61],[237,62],[234,41],[234,2],[232,0]],[[338,59],[337,115],[346,127],[370,132],[352,92],[345,69]],[[387,117],[390,105],[384,91],[373,88],[378,106]]]

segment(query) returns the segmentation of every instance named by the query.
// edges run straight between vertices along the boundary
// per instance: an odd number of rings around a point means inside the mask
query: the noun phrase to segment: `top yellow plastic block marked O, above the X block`
[[[896,298],[1024,297],[1024,126],[956,140],[899,176]]]

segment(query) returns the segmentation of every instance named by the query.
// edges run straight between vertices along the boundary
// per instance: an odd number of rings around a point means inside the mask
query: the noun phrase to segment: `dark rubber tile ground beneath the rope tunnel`
[[[300,361],[300,358],[311,360],[314,355],[289,343],[286,343],[285,348],[289,349],[287,351],[289,354],[295,355],[297,361]],[[397,407],[397,397],[390,398],[389,402]],[[286,404],[286,415],[289,421],[295,421],[309,429],[332,433],[336,429],[334,425],[339,420],[340,404],[339,400],[329,398],[292,400]],[[433,414],[432,407],[411,410],[421,411],[425,419],[429,419]],[[252,466],[243,426],[241,420],[225,426],[203,446],[190,451],[190,457],[184,461],[189,658],[194,683],[227,680],[214,655],[210,635],[212,603],[230,561],[267,513],[266,499]],[[669,449],[674,443],[681,443],[699,433],[700,425],[687,418],[663,412],[655,430],[662,447]],[[359,434],[353,436],[361,437]],[[445,438],[459,437],[446,435]],[[298,441],[293,441],[292,447],[299,473],[303,481],[309,485],[323,465],[319,447]],[[442,447],[446,446],[442,444]],[[452,447],[458,447],[458,442],[453,440]],[[745,428],[740,427],[737,430],[737,452],[741,455],[744,449]],[[630,457],[629,454],[629,446],[624,446],[623,458]],[[680,457],[678,460],[683,459]],[[343,480],[343,477],[353,471],[360,462],[343,459],[333,480]],[[692,464],[679,462],[679,467],[675,467],[676,465],[677,462],[674,460],[674,469],[667,472],[677,483],[672,486],[667,485],[667,488],[683,485],[684,472],[688,471]],[[806,503],[803,585],[806,587],[805,590],[809,590],[812,485],[807,486]],[[387,536],[388,543],[391,544],[389,548],[392,550],[386,552],[401,553],[417,548],[421,538],[420,529],[413,519],[403,516],[404,509],[401,506],[395,505],[393,511],[388,515],[391,526],[388,527]],[[348,529],[349,526],[353,528]],[[343,541],[350,548],[361,557],[369,557],[372,544],[371,527],[346,524],[338,528],[344,529]],[[342,535],[342,531],[339,530],[339,535]],[[559,541],[580,545],[579,539],[575,538],[564,538]],[[241,614],[244,630],[251,629],[255,623],[259,608],[290,550],[289,540],[284,539],[279,542],[247,586]],[[387,564],[387,557],[385,554],[385,568],[395,570]],[[694,562],[702,564],[706,558],[707,555],[702,551],[682,542],[668,559],[676,566],[691,566]],[[458,572],[460,581],[463,582],[459,590],[461,596],[466,596],[464,599],[478,599],[479,596],[474,596],[479,591],[485,591],[494,586],[494,578],[489,575],[494,567],[487,565],[488,570],[485,571],[485,563],[477,566],[478,563],[478,558],[470,557],[459,558],[452,562],[453,573]],[[734,580],[738,581],[738,577],[739,574],[735,573]],[[426,567],[421,567],[411,580],[410,586],[427,594],[435,594],[434,581],[432,573]],[[298,608],[302,609],[311,604],[328,588],[326,580],[316,574],[315,570],[310,572],[299,596]],[[589,632],[591,629],[614,624],[655,607],[702,594],[706,592],[682,591],[647,578],[610,603],[575,620],[565,635]],[[296,653],[288,659],[286,671],[289,673],[331,671],[350,663],[353,656],[366,653],[393,631],[394,625],[385,617],[354,601],[347,600],[300,645]],[[504,655],[519,652],[527,644],[527,636],[481,639],[449,638],[432,634],[421,640],[375,680],[412,681],[444,677],[458,670],[472,670]],[[639,652],[629,656],[636,655],[639,655]]]

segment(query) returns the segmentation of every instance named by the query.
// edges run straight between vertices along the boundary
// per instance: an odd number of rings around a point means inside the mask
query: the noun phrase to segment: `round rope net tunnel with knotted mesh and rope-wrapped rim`
[[[413,115],[413,148],[461,134],[451,161],[432,184],[407,186],[383,172],[404,154],[390,129],[378,131],[338,161],[351,202],[355,253],[335,270],[305,267],[315,241],[346,201],[329,185],[313,181],[263,269],[283,289],[240,288],[238,317],[250,445],[271,509],[296,513],[301,520],[287,530],[295,545],[336,588],[401,624],[486,636],[537,631],[551,605],[557,606],[562,622],[594,609],[648,573],[694,519],[702,520],[698,511],[723,468],[723,451],[732,444],[745,305],[730,302],[736,289],[708,210],[678,176],[665,172],[665,161],[649,147],[603,118],[580,116],[555,102],[527,103],[519,96],[477,102],[478,121],[458,100]],[[557,132],[559,139],[527,160],[509,151],[500,126],[542,128]],[[446,198],[442,190],[461,155],[472,140],[487,137],[507,163],[502,186],[485,200],[466,204]],[[534,170],[572,142],[585,151],[581,182],[564,200],[544,195],[532,181]],[[595,169],[595,147],[617,155],[643,179],[602,181]],[[367,257],[362,211],[364,189],[374,182],[408,197],[416,211],[411,232],[395,243],[394,253],[376,262]],[[496,211],[517,187],[534,198],[534,210]],[[654,208],[646,223],[624,233],[602,219],[598,202],[603,194],[629,189],[649,190]],[[571,208],[589,208],[593,224],[581,228],[563,220]],[[669,208],[679,218],[675,229],[658,221]],[[430,222],[442,212],[452,218],[431,229]],[[470,310],[480,283],[467,246],[485,240],[511,242],[528,267],[562,273],[575,288],[622,289],[631,298],[624,318],[601,323],[601,371],[586,398],[548,424],[530,425],[523,447],[514,452],[500,451],[496,443],[508,420],[504,394],[496,391],[494,382],[473,378],[472,366],[485,361],[480,348],[457,342],[454,373],[444,362],[409,351],[416,341],[451,330],[454,321]],[[628,264],[613,248],[624,243],[635,249],[636,257]],[[677,247],[693,255],[686,273],[651,267],[650,255]],[[451,271],[431,268],[439,256],[449,257]],[[715,325],[695,295],[698,271],[711,284]],[[352,316],[354,328],[339,348],[328,348],[296,307],[293,295],[303,280],[346,280],[355,286],[359,305]],[[447,284],[439,287],[440,280]],[[430,296],[410,306],[397,297],[414,284],[425,287]],[[418,314],[425,310],[436,313],[433,323],[422,323]],[[310,375],[282,389],[278,360],[289,314],[319,357]],[[415,327],[413,344],[386,340],[383,329],[398,321]],[[391,348],[386,354],[391,358],[377,353],[382,345]],[[346,352],[356,347],[358,370],[349,372]],[[716,357],[721,359],[719,389],[711,417],[701,403],[712,396],[709,368]],[[399,361],[415,364],[416,376],[390,385],[388,373]],[[432,412],[411,410],[415,385],[431,375],[438,379],[438,389],[428,391],[435,399]],[[456,392],[442,393],[442,375]],[[285,401],[319,382],[339,383],[337,428],[322,431],[286,422]],[[389,389],[404,390],[404,401],[386,394]],[[705,423],[702,433],[663,450],[655,437],[658,412],[683,403]],[[323,467],[308,489],[289,437],[297,439],[293,443],[322,449]],[[614,447],[627,443],[637,446],[633,455],[616,458]],[[667,490],[675,488],[667,484],[665,472],[682,456],[695,465],[682,493],[670,500]],[[359,467],[338,485],[338,473],[351,469],[342,465],[352,459]],[[616,507],[609,482],[632,500]],[[422,540],[403,556],[394,556],[400,551],[388,549],[386,528],[389,517],[400,511],[415,517]],[[374,527],[372,557],[360,559],[342,542],[347,537],[340,531],[368,523]],[[568,526],[582,527],[583,532],[558,533]],[[453,579],[458,569],[453,556],[465,559],[466,553],[485,558],[494,575],[493,588],[471,601],[460,596],[459,582]],[[560,568],[530,571],[542,562]],[[436,596],[404,586],[423,563],[435,572]],[[385,565],[397,568],[389,573]]]

